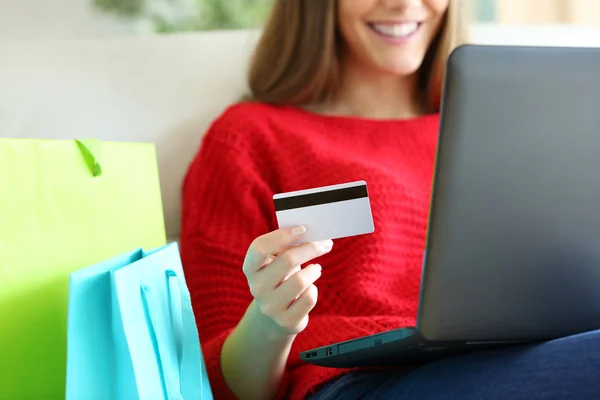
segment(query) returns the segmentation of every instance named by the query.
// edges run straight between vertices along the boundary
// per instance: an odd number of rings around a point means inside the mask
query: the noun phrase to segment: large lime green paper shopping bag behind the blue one
[[[64,399],[69,274],[164,244],[154,145],[0,139],[0,399]]]

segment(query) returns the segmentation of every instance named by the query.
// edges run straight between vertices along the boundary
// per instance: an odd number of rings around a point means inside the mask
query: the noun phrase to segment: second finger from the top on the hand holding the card
[[[285,250],[263,269],[248,274],[250,291],[254,297],[264,297],[275,290],[283,281],[295,275],[293,271],[300,265],[331,251],[333,242],[306,243]]]

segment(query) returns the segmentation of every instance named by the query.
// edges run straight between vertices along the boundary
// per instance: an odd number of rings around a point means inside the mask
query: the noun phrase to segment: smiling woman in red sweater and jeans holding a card
[[[598,394],[585,370],[600,362],[586,344],[595,334],[413,371],[299,359],[415,324],[442,74],[460,15],[458,0],[275,2],[250,99],[212,124],[184,185],[182,258],[217,399]],[[277,229],[273,194],[357,180],[375,233],[290,246],[306,229]],[[571,347],[587,349],[585,368],[569,365]],[[545,375],[555,360],[561,379]]]

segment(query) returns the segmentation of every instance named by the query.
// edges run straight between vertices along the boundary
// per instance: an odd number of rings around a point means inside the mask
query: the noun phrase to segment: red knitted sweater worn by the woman
[[[415,324],[438,123],[245,103],[212,124],[184,183],[181,253],[215,398],[232,398],[221,347],[252,300],[248,246],[277,229],[275,193],[365,180],[375,222],[318,259],[319,300],[292,348],[284,398],[346,372],[304,364],[300,351]]]

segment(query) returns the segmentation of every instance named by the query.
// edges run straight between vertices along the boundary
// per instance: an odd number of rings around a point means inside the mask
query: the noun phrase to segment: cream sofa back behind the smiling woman
[[[258,31],[0,40],[0,137],[156,144],[167,235],[211,121],[246,90]],[[472,42],[600,47],[600,28],[476,26]]]

